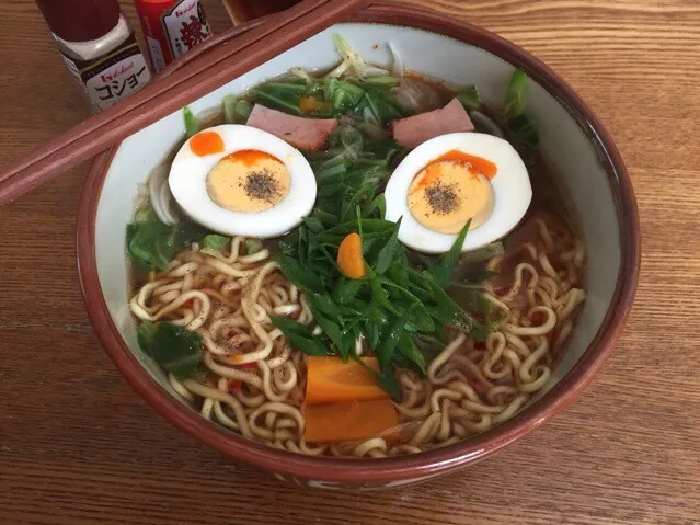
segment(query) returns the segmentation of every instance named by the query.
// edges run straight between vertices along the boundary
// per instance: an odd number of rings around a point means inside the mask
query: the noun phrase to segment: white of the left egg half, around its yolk
[[[183,212],[202,226],[228,236],[278,237],[298,226],[315,203],[315,176],[301,152],[254,127],[223,124],[206,129],[223,141],[223,151],[199,157],[190,140],[180,149],[168,182]],[[289,193],[276,206],[257,213],[230,212],[207,193],[207,175],[223,157],[244,149],[264,151],[279,159],[289,172]]]

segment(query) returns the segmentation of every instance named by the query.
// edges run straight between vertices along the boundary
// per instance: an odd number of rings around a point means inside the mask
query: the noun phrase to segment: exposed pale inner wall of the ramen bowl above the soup
[[[487,50],[436,33],[375,23],[342,23],[199,99],[191,109],[195,113],[210,110],[226,94],[241,93],[291,67],[325,68],[336,64],[334,32],[341,32],[368,61],[385,65],[391,61],[387,42],[392,41],[411,70],[458,85],[475,84],[484,99],[496,104],[503,100],[514,70],[513,65]],[[599,331],[613,299],[622,258],[611,183],[586,134],[586,124],[576,122],[556,95],[533,81],[530,87],[527,111],[537,123],[544,157],[581,217],[588,258],[588,298],[547,391],[572,369]],[[164,374],[136,342],[128,308],[124,231],[133,217],[137,185],[146,181],[183,133],[182,115],[176,112],[124,140],[99,194],[94,235],[99,281],[112,321],[148,374],[179,400]]]

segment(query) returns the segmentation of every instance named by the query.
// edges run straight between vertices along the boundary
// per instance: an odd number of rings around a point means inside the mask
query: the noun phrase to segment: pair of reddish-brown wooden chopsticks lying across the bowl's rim
[[[264,64],[371,0],[303,0],[0,170],[0,205]],[[191,52],[191,53],[194,53]],[[186,55],[185,55],[186,56]]]

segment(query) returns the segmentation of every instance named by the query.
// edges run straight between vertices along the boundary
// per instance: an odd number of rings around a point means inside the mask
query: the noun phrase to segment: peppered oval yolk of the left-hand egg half
[[[289,193],[289,171],[276,157],[246,149],[223,157],[207,175],[211,201],[230,212],[256,213]]]

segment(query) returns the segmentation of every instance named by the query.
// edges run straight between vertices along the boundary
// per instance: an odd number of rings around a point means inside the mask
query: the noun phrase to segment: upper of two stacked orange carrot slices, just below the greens
[[[376,357],[362,357],[363,363],[379,372]],[[343,363],[340,357],[307,358],[307,404],[336,401],[367,401],[388,398],[369,373],[357,362]]]

